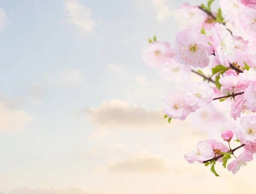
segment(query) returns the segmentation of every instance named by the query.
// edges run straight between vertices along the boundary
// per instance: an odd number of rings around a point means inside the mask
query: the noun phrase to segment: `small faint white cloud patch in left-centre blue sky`
[[[81,83],[82,75],[75,69],[63,70],[59,74],[58,82],[63,85],[69,85],[73,83]]]

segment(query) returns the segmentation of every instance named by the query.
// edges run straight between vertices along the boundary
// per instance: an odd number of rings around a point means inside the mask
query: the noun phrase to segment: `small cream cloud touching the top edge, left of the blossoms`
[[[173,11],[166,5],[166,0],[151,0],[152,6],[155,9],[156,19],[158,22],[165,20],[173,15]]]

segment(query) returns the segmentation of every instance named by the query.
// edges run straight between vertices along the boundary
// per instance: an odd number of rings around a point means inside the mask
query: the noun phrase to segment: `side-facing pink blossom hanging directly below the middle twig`
[[[231,103],[230,117],[236,120],[245,109],[247,109],[247,107],[245,106],[244,94],[237,95],[235,100],[232,100]]]

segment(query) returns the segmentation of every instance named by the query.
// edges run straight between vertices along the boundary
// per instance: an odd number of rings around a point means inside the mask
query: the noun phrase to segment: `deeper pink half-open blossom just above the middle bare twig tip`
[[[226,89],[233,89],[232,87],[236,87],[239,83],[238,74],[233,69],[227,70],[220,75],[219,83]]]

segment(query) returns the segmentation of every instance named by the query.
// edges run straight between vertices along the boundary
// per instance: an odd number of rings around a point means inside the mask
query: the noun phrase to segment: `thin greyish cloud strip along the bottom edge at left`
[[[18,188],[13,190],[10,194],[88,194],[86,191],[76,188]]]

